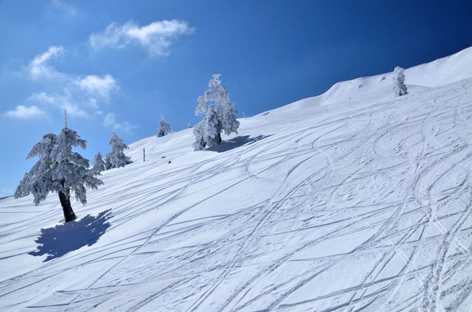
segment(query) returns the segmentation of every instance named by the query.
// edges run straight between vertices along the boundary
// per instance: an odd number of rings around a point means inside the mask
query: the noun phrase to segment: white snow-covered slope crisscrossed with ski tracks
[[[137,141],[73,223],[0,200],[0,309],[470,311],[471,70],[468,48],[401,98],[342,82],[213,150]]]

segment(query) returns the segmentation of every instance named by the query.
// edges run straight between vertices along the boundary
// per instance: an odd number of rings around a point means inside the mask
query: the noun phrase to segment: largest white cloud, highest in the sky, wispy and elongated
[[[124,48],[128,44],[140,44],[151,56],[166,56],[173,39],[182,34],[192,34],[194,30],[182,20],[161,20],[143,27],[132,21],[124,25],[112,22],[104,32],[91,34],[89,44],[92,48]]]

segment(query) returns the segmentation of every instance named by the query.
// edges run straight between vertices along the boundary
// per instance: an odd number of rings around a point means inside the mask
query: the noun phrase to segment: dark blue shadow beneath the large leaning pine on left
[[[32,256],[47,254],[44,260],[46,262],[85,245],[94,245],[110,227],[110,223],[106,222],[111,217],[110,211],[111,209],[108,209],[98,216],[88,214],[79,221],[67,222],[54,228],[42,228],[41,235],[35,240],[39,246],[29,254]]]

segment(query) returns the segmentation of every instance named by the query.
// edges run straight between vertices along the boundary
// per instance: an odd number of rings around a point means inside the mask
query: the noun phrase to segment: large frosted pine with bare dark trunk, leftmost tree
[[[27,155],[27,159],[38,156],[39,160],[20,181],[15,198],[32,194],[37,205],[46,200],[49,192],[57,192],[65,221],[73,221],[75,213],[70,204],[70,193],[74,191],[77,201],[86,204],[85,187],[97,189],[103,184],[96,177],[99,173],[88,169],[89,161],[72,151],[75,146],[84,150],[87,147],[86,141],[67,127],[67,122],[58,136],[45,134]]]

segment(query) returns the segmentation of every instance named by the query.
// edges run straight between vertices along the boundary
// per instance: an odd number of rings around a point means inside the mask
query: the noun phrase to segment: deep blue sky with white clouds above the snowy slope
[[[0,197],[63,109],[89,160],[199,122],[211,74],[247,116],[472,45],[471,1],[0,1]]]

